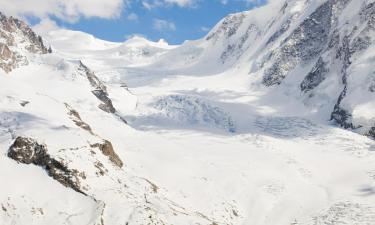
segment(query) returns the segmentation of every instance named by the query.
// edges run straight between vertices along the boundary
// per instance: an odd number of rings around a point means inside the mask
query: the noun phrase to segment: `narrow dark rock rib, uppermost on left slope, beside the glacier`
[[[107,87],[95,76],[95,73],[82,62],[80,62],[78,70],[86,75],[93,88],[92,93],[102,102],[99,108],[107,113],[115,113],[116,109],[112,104],[112,100],[108,97]]]

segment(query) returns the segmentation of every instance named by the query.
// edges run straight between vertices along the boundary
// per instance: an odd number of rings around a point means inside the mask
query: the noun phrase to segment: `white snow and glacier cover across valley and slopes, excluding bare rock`
[[[141,37],[110,43],[67,30],[46,34],[53,54],[0,72],[0,223],[374,224],[375,142],[328,121],[341,91],[339,75],[327,75],[313,98],[299,89],[299,74],[313,62],[297,66],[279,86],[262,85],[259,64],[272,49],[261,49],[277,27],[254,33],[243,52],[220,61],[223,43],[238,40],[250,24],[268,24],[262,12],[278,13],[281,1],[272,2],[244,13],[251,16],[240,32],[217,43],[169,46]],[[292,2],[289,13],[303,11],[302,1]],[[311,1],[306,11],[322,2]],[[363,96],[362,85],[372,76],[372,52],[353,63],[358,76],[349,77],[345,103],[353,120],[368,126],[374,93]],[[105,84],[116,114],[98,108],[77,71],[79,60]],[[93,134],[76,126],[64,103]],[[43,168],[9,159],[15,136],[45,143],[51,156],[84,171],[87,196]],[[123,168],[91,147],[103,140],[111,141]]]

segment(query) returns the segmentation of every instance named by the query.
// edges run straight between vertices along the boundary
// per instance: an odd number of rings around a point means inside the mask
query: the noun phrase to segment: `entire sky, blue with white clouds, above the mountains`
[[[229,13],[266,0],[0,0],[5,14],[47,29],[64,27],[108,41],[133,35],[170,44],[203,37]]]

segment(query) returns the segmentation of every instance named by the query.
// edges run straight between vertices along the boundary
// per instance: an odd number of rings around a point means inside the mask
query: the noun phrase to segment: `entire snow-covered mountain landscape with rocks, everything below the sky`
[[[179,46],[0,18],[0,224],[375,223],[373,1]]]

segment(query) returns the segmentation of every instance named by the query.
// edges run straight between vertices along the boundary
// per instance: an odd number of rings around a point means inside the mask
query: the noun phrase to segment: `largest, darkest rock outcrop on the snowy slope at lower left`
[[[80,189],[78,171],[70,170],[60,161],[52,158],[47,146],[26,137],[17,137],[10,146],[8,157],[23,164],[34,164],[44,168],[53,179],[73,190],[85,194]]]

